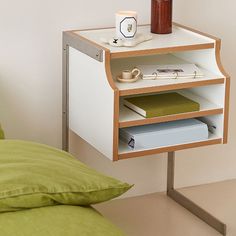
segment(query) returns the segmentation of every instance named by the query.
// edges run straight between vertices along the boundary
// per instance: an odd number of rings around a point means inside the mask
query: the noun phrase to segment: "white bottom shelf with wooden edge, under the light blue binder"
[[[188,148],[195,148],[195,147],[221,144],[221,143],[223,143],[223,139],[212,133],[209,133],[209,138],[207,140],[192,142],[192,143],[183,143],[183,144],[178,144],[178,145],[173,145],[173,146],[158,147],[154,149],[132,150],[126,143],[120,140],[118,159],[122,160],[122,159],[127,159],[127,158],[154,155],[154,154],[159,154],[159,153],[164,153],[164,152],[173,152],[173,151],[178,151],[178,150],[183,150],[183,149],[188,149]]]

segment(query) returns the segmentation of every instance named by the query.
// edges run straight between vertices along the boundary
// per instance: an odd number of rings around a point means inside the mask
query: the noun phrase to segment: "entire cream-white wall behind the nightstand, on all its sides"
[[[81,0],[0,0],[0,122],[8,138],[61,144],[61,32],[114,25],[114,13],[138,11],[139,23],[149,23],[150,2]],[[236,3],[233,0],[174,0],[177,22],[222,38],[222,61],[236,75]],[[232,79],[230,143],[177,153],[177,186],[236,177],[235,83]],[[71,134],[71,150],[84,162],[135,183],[128,195],[163,191],[163,155],[111,163]]]

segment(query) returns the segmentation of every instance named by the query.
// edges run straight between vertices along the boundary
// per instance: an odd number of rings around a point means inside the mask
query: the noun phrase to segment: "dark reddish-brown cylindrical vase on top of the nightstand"
[[[151,32],[172,33],[172,0],[152,0]]]

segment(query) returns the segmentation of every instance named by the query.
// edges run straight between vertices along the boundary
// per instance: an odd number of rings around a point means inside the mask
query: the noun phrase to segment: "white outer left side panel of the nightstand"
[[[114,92],[104,62],[70,48],[69,128],[112,159],[113,117]]]

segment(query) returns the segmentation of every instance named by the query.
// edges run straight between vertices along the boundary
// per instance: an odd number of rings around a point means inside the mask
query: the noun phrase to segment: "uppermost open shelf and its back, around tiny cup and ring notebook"
[[[204,77],[196,79],[158,79],[158,80],[138,80],[135,83],[120,83],[116,77],[124,69],[133,69],[137,65],[145,64],[188,64],[172,54],[155,55],[149,57],[134,57],[129,59],[116,59],[111,62],[113,79],[116,87],[119,89],[120,96],[128,96],[133,94],[153,93],[168,91],[173,89],[185,89],[200,87],[206,85],[223,84],[225,78],[221,73],[211,72],[199,66]]]

